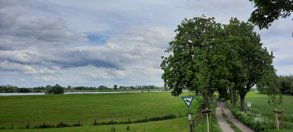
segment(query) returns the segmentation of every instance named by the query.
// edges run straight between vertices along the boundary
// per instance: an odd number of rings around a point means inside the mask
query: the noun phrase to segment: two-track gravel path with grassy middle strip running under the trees
[[[231,127],[230,124],[226,122],[226,120],[229,120],[235,124],[240,130],[244,132],[254,132],[249,127],[244,125],[242,122],[237,120],[237,118],[234,117],[234,115],[231,113],[230,109],[228,108],[227,104],[223,101],[217,101],[217,107],[216,107],[216,118],[217,123],[219,124],[221,130],[223,132],[235,132]],[[227,115],[227,118],[224,118],[222,115],[222,111]]]

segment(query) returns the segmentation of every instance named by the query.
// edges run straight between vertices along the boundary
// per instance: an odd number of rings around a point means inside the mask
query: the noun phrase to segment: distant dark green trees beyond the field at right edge
[[[293,95],[293,75],[284,76],[280,75],[278,76],[276,80],[276,87],[280,90],[282,94],[290,94]],[[259,93],[265,93],[265,86],[263,85],[257,85],[256,86]]]

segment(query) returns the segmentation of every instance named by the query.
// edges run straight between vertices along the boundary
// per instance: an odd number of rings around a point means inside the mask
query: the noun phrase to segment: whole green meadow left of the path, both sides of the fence
[[[182,96],[187,96],[188,94],[190,93],[186,92]],[[67,127],[68,131],[72,131],[72,129],[77,131],[80,131],[80,129],[104,131],[103,129],[108,129],[111,125],[91,126],[95,119],[97,119],[97,122],[109,122],[111,118],[113,118],[113,122],[128,122],[128,118],[130,118],[131,122],[134,122],[146,116],[147,118],[151,118],[160,116],[161,114],[175,114],[178,117],[179,111],[181,116],[186,116],[188,112],[182,99],[180,97],[173,97],[170,93],[23,95],[0,96],[0,100],[0,127],[5,127],[5,130],[11,128],[11,123],[14,123],[14,129],[18,129],[27,126],[27,123],[30,123],[30,128],[34,128],[35,126],[42,125],[43,122],[46,122],[46,125],[57,125],[62,121],[63,123],[72,125],[80,121],[83,126]],[[194,101],[190,111],[197,112],[197,107],[197,102]],[[167,122],[167,124],[163,123],[162,126],[165,125],[165,127],[170,128],[170,125],[173,125],[174,121],[180,122],[180,120],[186,120],[188,126],[188,120],[185,118],[187,117],[158,122],[146,122],[143,124],[146,126],[146,129],[151,131],[156,130],[150,125],[155,123],[158,126],[163,122]],[[216,118],[213,118],[214,129],[217,129]],[[143,128],[140,127],[141,124],[134,123],[129,125],[137,127],[136,130],[140,131],[140,128]],[[120,128],[126,129],[126,127],[124,128],[125,125],[114,126],[117,126],[116,130],[118,130]],[[178,128],[180,131],[185,126],[178,124],[178,127],[180,127]],[[58,129],[64,131],[67,128]],[[42,131],[59,131],[58,129],[42,129]],[[173,131],[173,129],[167,129],[166,131],[170,130]]]

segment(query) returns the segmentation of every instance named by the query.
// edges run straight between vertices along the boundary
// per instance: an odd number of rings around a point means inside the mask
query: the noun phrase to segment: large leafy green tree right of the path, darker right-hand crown
[[[252,24],[231,18],[224,29],[226,43],[230,46],[227,51],[229,80],[240,95],[241,111],[244,111],[244,99],[249,90],[266,77],[265,73],[274,72],[271,65],[274,56],[266,47],[262,48],[260,35],[253,31]],[[235,97],[236,92],[233,94]]]

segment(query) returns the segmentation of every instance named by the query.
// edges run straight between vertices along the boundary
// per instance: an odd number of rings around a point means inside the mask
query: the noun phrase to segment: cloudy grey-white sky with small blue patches
[[[248,0],[0,0],[0,85],[164,85],[161,56],[185,18],[247,22]],[[256,31],[293,74],[292,16]]]

